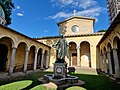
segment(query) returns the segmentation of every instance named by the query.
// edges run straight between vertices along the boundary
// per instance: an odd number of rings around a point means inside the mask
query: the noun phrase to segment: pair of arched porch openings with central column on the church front
[[[70,66],[91,67],[90,43],[82,41],[79,44],[69,42]]]

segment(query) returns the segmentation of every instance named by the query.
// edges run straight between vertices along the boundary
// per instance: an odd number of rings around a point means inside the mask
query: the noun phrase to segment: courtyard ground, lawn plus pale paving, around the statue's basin
[[[43,84],[38,81],[45,74],[52,74],[52,68],[49,70],[28,72],[22,74],[18,72],[7,78],[0,79],[0,90],[57,90],[59,86],[52,82]],[[97,74],[95,69],[76,67],[75,73],[68,73],[79,77],[79,80],[85,82],[83,86],[71,86],[65,90],[119,90],[120,84],[103,74]],[[17,76],[16,76],[17,75]],[[18,76],[19,75],[19,76]],[[58,89],[59,90],[59,89]]]

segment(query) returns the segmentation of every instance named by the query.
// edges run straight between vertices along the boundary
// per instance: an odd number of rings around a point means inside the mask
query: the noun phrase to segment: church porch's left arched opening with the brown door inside
[[[77,66],[77,50],[76,50],[76,43],[75,42],[70,42],[69,43],[69,55],[70,55],[70,60],[69,60],[69,66]]]

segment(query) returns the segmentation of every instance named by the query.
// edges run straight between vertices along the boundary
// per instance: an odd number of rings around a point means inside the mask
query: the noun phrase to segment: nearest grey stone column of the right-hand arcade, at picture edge
[[[115,63],[115,76],[116,78],[120,78],[120,68],[119,68],[119,62],[118,62],[118,54],[117,49],[113,49],[113,57],[114,57],[114,63]]]

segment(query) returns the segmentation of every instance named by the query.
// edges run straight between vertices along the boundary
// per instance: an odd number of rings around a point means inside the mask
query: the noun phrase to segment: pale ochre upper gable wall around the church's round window
[[[66,33],[64,35],[88,34],[93,33],[93,22],[93,20],[73,18],[69,21],[63,22],[59,28],[66,27]],[[79,32],[72,32],[71,28],[74,25],[79,27]]]

